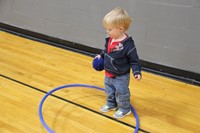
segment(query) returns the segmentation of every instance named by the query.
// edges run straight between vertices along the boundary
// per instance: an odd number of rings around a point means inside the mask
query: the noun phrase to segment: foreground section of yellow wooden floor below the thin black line
[[[0,132],[46,132],[38,116],[39,103],[44,93],[2,77],[0,81]],[[43,105],[43,116],[58,133],[112,132],[110,126],[124,133],[133,131],[133,128],[52,96]]]

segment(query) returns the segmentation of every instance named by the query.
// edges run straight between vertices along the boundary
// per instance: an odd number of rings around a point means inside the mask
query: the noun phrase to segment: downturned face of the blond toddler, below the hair
[[[110,37],[118,39],[124,34],[124,28],[106,27],[106,32]]]

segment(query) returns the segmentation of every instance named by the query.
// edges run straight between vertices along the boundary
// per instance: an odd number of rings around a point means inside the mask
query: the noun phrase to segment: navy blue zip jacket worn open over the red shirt
[[[141,75],[141,65],[132,37],[127,37],[120,42],[110,53],[107,52],[109,39],[106,38],[105,50],[100,54],[104,58],[104,69],[119,76],[130,73],[131,68],[133,75]]]

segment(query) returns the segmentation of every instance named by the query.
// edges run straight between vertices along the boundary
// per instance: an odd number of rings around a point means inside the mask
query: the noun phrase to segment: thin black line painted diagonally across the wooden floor
[[[16,80],[16,79],[7,77],[7,76],[5,76],[5,75],[0,74],[0,76],[3,77],[3,78],[6,78],[6,79],[8,79],[8,80],[14,81],[14,82],[16,82],[16,83],[19,83],[19,84],[21,84],[21,85],[24,85],[24,86],[26,86],[26,87],[29,87],[29,88],[31,88],[31,89],[33,89],[33,90],[42,92],[42,93],[44,93],[44,94],[47,93],[46,91],[43,91],[43,90],[41,90],[41,89],[39,89],[39,88],[33,87],[33,86],[28,85],[28,84],[26,84],[26,83],[23,83],[23,82],[21,82],[21,81],[18,81],[18,80]],[[128,124],[128,123],[125,123],[125,122],[120,121],[120,120],[118,120],[118,119],[115,119],[115,118],[113,118],[113,117],[107,116],[107,115],[105,115],[105,114],[102,114],[102,113],[100,113],[100,112],[98,112],[98,111],[92,110],[92,109],[90,109],[90,108],[88,108],[88,107],[85,107],[85,106],[83,106],[83,105],[80,105],[80,104],[78,104],[78,103],[72,102],[72,101],[67,100],[67,99],[65,99],[65,98],[56,96],[56,95],[54,95],[54,94],[51,94],[51,96],[53,96],[53,97],[55,97],[55,98],[58,98],[58,99],[60,99],[60,100],[63,100],[63,101],[65,101],[65,102],[71,103],[71,104],[73,104],[73,105],[76,105],[76,106],[78,106],[78,107],[80,107],[80,108],[83,108],[83,109],[85,109],[85,110],[91,111],[91,112],[96,113],[96,114],[99,114],[99,115],[101,115],[101,116],[104,116],[104,117],[106,117],[106,118],[108,118],[108,119],[110,119],[110,120],[113,120],[113,121],[115,121],[115,122],[118,122],[118,123],[120,123],[120,124],[126,125],[126,126],[128,126],[128,127],[134,128],[134,129],[136,128],[136,127],[133,126],[133,125],[130,125],[130,124]],[[146,130],[141,129],[141,128],[139,129],[139,131],[142,131],[142,132],[144,132],[144,133],[150,133],[149,131],[146,131]]]

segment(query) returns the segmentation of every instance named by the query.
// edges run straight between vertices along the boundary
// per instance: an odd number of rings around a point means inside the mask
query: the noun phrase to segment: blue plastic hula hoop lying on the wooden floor
[[[40,121],[42,123],[42,125],[44,126],[44,128],[49,132],[49,133],[55,133],[45,122],[43,115],[42,115],[42,106],[43,103],[45,101],[45,99],[51,95],[53,92],[60,90],[60,89],[64,89],[64,88],[70,88],[70,87],[84,87],[84,88],[93,88],[93,89],[97,89],[97,90],[101,90],[101,91],[105,91],[105,89],[97,87],[97,86],[93,86],[93,85],[86,85],[86,84],[69,84],[69,85],[63,85],[57,88],[54,88],[53,90],[49,91],[48,93],[46,93],[46,95],[42,98],[40,105],[39,105],[39,117],[40,117]],[[137,112],[135,111],[135,109],[133,108],[133,106],[131,105],[131,111],[133,112],[135,119],[136,119],[136,128],[134,133],[137,133],[139,130],[139,117],[137,115]]]

